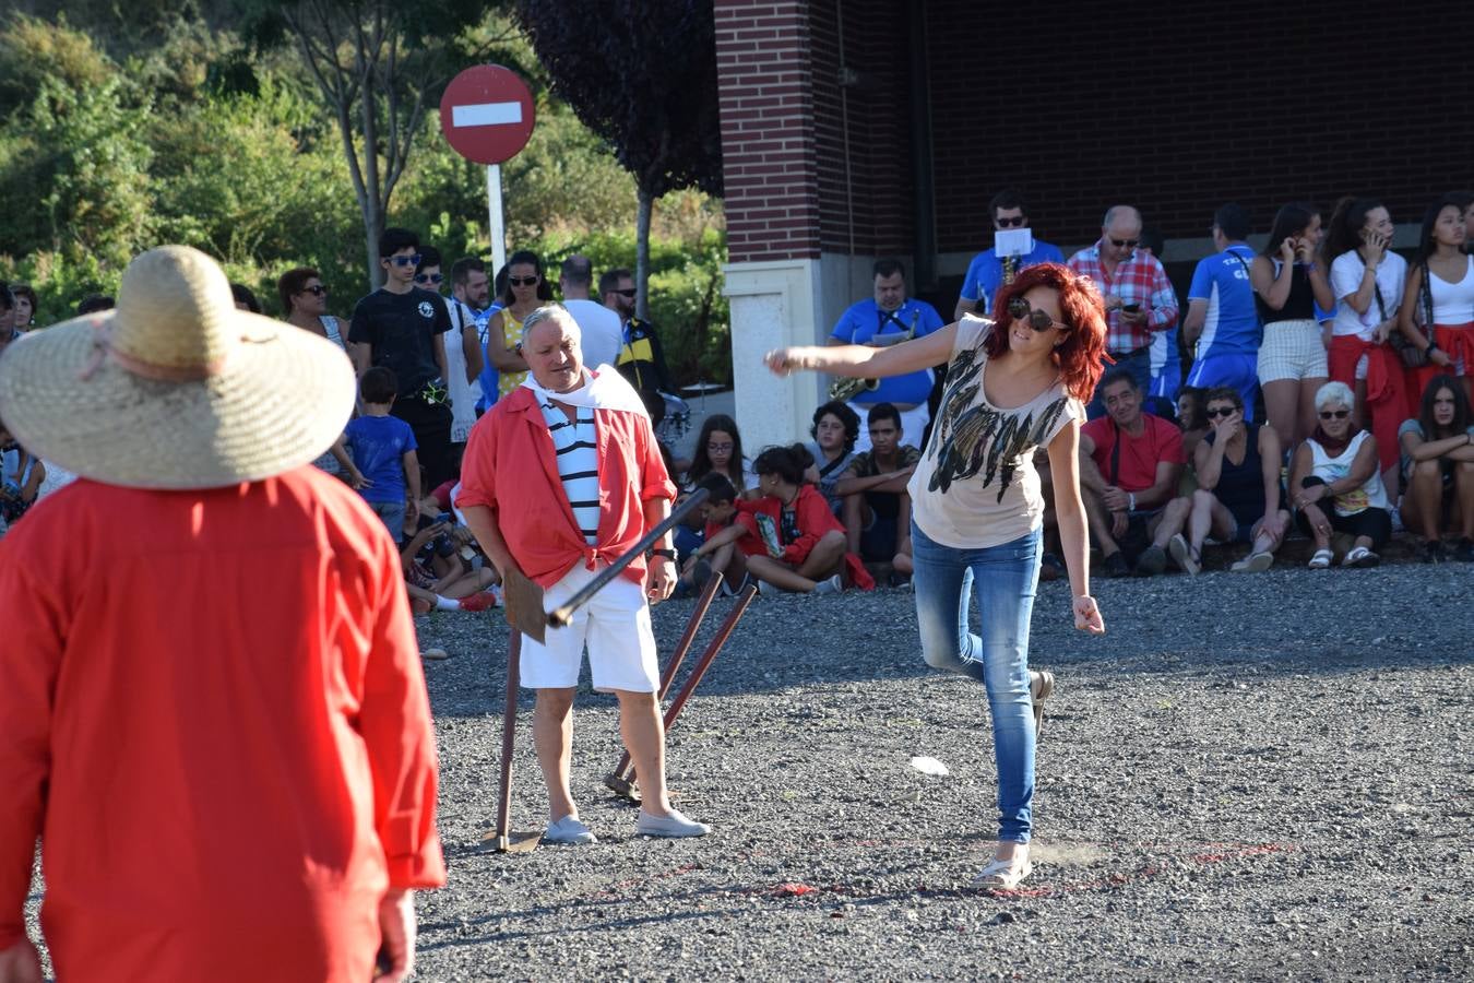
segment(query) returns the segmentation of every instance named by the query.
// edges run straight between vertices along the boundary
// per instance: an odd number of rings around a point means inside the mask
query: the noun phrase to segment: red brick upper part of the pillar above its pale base
[[[820,253],[808,4],[716,0],[731,262]]]

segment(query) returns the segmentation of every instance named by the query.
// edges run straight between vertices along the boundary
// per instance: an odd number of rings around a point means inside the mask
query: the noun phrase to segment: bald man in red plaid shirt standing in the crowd
[[[1095,280],[1106,298],[1106,351],[1117,365],[1131,370],[1142,392],[1151,386],[1151,335],[1176,327],[1178,295],[1167,271],[1141,242],[1141,212],[1131,205],[1113,205],[1094,246],[1070,256],[1069,267]],[[1100,393],[1091,399],[1089,417],[1104,413]]]

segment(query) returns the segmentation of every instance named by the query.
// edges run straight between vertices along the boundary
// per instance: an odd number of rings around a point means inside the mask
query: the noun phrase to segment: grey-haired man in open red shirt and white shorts
[[[675,485],[640,395],[612,368],[584,368],[578,323],[567,311],[538,308],[522,323],[522,337],[528,379],[472,429],[455,507],[503,576],[519,570],[556,606],[665,520]],[[672,809],[665,788],[649,601],[663,601],[674,587],[675,548],[666,536],[653,550],[649,578],[637,557],[575,612],[572,625],[550,629],[544,643],[522,637],[522,684],[538,693],[532,740],[548,787],[545,843],[595,842],[569,787],[570,713],[585,643],[594,688],[619,697],[643,799],[635,833],[709,831]]]

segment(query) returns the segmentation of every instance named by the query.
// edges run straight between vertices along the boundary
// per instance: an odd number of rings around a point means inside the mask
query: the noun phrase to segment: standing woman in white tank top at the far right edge
[[[1428,206],[1397,311],[1403,336],[1425,361],[1408,368],[1412,416],[1428,380],[1442,373],[1458,376],[1464,396],[1474,396],[1474,256],[1464,253],[1467,239],[1464,209],[1452,196]]]

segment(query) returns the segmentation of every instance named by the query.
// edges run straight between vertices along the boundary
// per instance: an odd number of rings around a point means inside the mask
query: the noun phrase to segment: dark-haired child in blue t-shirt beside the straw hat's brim
[[[420,458],[414,430],[399,417],[389,416],[399,382],[382,365],[370,368],[358,382],[363,416],[348,421],[333,457],[345,464],[348,483],[358,489],[395,542],[402,542],[405,523],[419,519]],[[342,445],[351,460],[342,454]],[[408,494],[405,494],[408,492]]]

